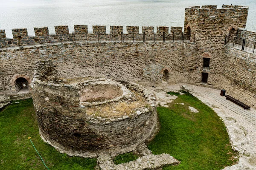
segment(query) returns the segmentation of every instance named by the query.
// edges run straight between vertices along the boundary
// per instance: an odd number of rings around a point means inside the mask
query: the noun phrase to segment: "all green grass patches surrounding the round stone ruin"
[[[163,170],[220,170],[234,162],[227,130],[217,114],[192,95],[179,95],[169,108],[158,107],[160,131],[148,144],[154,154],[169,153],[181,163]],[[96,159],[70,157],[44,143],[38,133],[32,99],[0,111],[0,170],[93,170]],[[185,105],[175,104],[185,103]],[[192,113],[188,106],[199,113]],[[137,159],[133,153],[116,156],[116,164]]]

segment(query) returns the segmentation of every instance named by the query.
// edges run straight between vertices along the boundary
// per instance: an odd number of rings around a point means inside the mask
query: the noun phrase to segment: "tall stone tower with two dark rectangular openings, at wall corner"
[[[248,6],[191,6],[185,9],[184,38],[195,48],[184,59],[185,73],[195,82],[216,85],[224,66],[225,37],[245,28]],[[200,62],[198,62],[200,61]]]

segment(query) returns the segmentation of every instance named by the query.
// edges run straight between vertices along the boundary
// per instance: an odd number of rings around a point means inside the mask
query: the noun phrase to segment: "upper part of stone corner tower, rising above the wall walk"
[[[191,41],[201,43],[205,37],[223,37],[232,28],[245,28],[248,10],[248,6],[190,6],[185,9],[184,33],[189,34]]]

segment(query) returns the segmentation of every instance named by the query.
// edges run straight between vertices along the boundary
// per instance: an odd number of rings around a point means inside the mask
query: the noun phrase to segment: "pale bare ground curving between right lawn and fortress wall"
[[[224,100],[224,96],[220,96],[220,90],[205,88],[201,86],[188,85],[188,84],[175,84],[168,85],[167,83],[161,83],[155,85],[155,87],[148,87],[149,90],[154,92],[157,97],[161,95],[160,91],[179,91],[181,86],[185,85],[185,88],[189,90],[189,93],[196,96],[210,108],[212,108],[220,119],[223,120],[227,127],[227,132],[230,137],[230,142],[234,150],[239,152],[239,163],[231,167],[225,167],[224,170],[256,170],[256,125],[251,125],[246,116],[241,116],[238,111],[246,115],[256,117],[256,110],[250,108],[245,111],[239,106],[235,106],[233,102]],[[158,92],[158,93],[157,93]],[[228,91],[226,92],[226,95]],[[160,96],[162,97],[162,96]],[[170,98],[170,97],[169,97]],[[166,97],[167,102],[171,99]],[[163,98],[162,98],[163,99]],[[224,104],[225,101],[226,104]],[[159,102],[160,105],[164,105],[165,102]],[[236,107],[236,111],[233,111],[233,107]],[[231,109],[231,110],[230,110]]]

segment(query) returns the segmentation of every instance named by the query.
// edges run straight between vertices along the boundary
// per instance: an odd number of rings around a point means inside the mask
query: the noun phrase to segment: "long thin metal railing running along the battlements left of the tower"
[[[119,34],[111,32],[89,32],[89,33],[76,33],[70,34],[49,34],[44,36],[27,36],[18,39],[3,38],[0,40],[0,48],[8,47],[23,47],[26,45],[39,45],[39,44],[52,44],[63,42],[181,42],[189,40],[190,37],[184,35],[182,32],[166,34],[162,33],[124,33]]]

